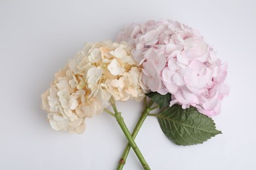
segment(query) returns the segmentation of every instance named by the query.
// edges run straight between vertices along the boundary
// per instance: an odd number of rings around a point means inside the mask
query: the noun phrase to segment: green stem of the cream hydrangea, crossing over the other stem
[[[146,170],[150,170],[150,167],[148,166],[148,163],[146,163],[146,160],[142,156],[137,144],[133,140],[133,137],[131,136],[131,133],[129,132],[129,129],[125,125],[125,122],[123,121],[123,117],[121,116],[121,112],[117,111],[116,103],[115,103],[113,98],[110,99],[110,103],[111,103],[111,105],[113,107],[113,110],[115,112],[117,123],[119,124],[123,133],[125,134],[125,137],[127,138],[128,142],[129,142],[129,145],[133,148],[135,154],[139,158],[140,163],[142,164],[142,167]]]

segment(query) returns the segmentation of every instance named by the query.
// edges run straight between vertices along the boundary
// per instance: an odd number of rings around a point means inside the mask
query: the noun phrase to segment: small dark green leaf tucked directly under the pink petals
[[[146,96],[150,97],[150,99],[152,99],[152,101],[156,102],[160,109],[162,107],[169,107],[170,105],[170,101],[171,101],[171,93],[167,93],[165,95],[161,95],[158,92],[150,92],[147,93]]]

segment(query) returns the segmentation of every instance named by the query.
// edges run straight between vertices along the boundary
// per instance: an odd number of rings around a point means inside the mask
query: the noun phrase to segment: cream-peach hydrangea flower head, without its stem
[[[111,96],[116,101],[140,101],[141,73],[126,42],[85,44],[41,96],[51,127],[83,133],[85,118],[100,114]]]

